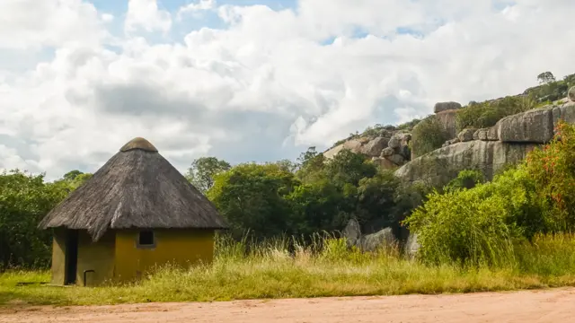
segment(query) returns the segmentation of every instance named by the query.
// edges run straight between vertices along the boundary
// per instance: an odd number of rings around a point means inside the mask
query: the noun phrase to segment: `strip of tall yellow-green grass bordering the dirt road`
[[[349,251],[343,240],[326,240],[317,252],[285,240],[217,242],[212,265],[158,268],[137,284],[97,288],[49,287],[48,271],[11,270],[0,274],[0,305],[114,304],[146,301],[227,301],[262,298],[480,292],[575,286],[575,236],[539,237],[517,245],[507,264],[497,267],[425,265],[394,250],[373,254]]]

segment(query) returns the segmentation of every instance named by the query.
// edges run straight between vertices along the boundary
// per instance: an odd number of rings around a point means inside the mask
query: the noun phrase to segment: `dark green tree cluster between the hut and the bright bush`
[[[355,217],[366,227],[397,225],[399,185],[391,171],[342,150],[330,160],[314,147],[292,173],[279,164],[242,164],[217,175],[208,198],[232,225],[234,237],[341,231]]]

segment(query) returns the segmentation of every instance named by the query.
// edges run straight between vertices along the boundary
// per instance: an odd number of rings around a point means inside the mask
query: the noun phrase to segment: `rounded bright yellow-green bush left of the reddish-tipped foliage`
[[[507,187],[498,193],[495,185],[473,189],[437,191],[405,220],[418,234],[420,257],[431,263],[502,265],[512,255],[517,228],[511,218],[523,205],[525,191]]]

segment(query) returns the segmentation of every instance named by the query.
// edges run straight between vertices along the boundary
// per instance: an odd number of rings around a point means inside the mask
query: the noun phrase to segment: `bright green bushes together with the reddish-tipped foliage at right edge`
[[[525,162],[470,189],[459,179],[445,194],[434,192],[405,221],[418,233],[430,262],[501,264],[515,240],[575,229],[575,126],[560,123],[553,142]],[[461,180],[463,183],[464,181]]]

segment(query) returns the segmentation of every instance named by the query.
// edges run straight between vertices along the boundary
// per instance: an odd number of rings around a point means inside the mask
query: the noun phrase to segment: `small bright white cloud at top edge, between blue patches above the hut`
[[[137,31],[170,31],[172,15],[158,8],[156,0],[128,0],[128,13],[124,29]]]

